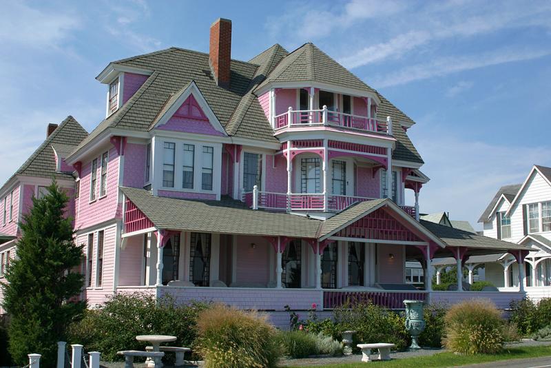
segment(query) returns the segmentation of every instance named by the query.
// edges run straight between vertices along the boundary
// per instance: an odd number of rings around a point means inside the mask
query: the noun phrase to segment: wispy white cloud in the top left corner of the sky
[[[67,39],[78,25],[75,14],[44,12],[23,1],[8,1],[0,12],[0,43],[47,48]]]

